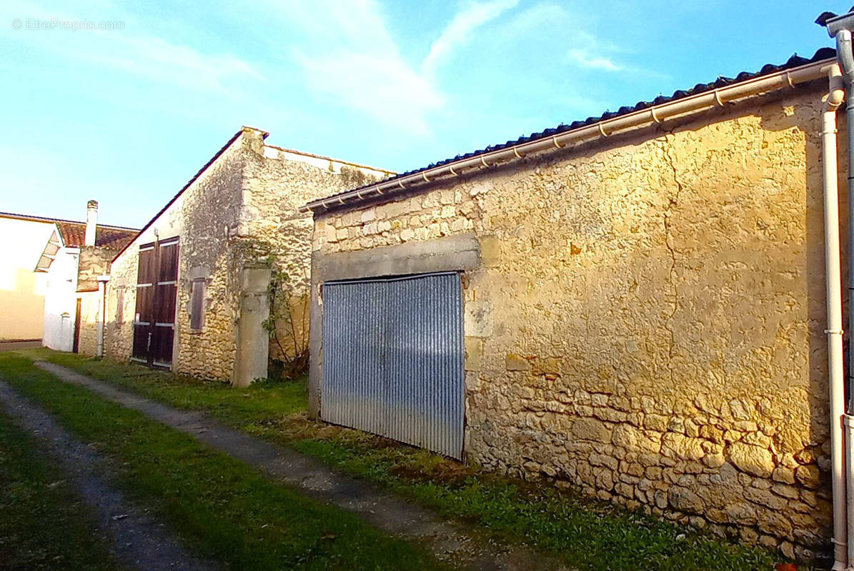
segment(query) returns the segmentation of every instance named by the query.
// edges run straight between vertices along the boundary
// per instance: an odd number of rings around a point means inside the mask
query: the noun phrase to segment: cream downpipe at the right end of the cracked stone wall
[[[845,368],[842,351],[842,272],[839,261],[839,169],[836,147],[836,110],[845,90],[839,64],[828,70],[829,90],[822,107],[822,169],[824,178],[824,259],[828,288],[828,376],[830,382],[830,442],[834,492],[834,571],[845,571],[847,514],[845,501]]]

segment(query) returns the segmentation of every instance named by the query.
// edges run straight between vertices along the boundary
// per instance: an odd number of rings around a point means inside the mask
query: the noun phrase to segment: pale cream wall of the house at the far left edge
[[[42,338],[47,280],[33,270],[55,228],[0,217],[0,340]]]

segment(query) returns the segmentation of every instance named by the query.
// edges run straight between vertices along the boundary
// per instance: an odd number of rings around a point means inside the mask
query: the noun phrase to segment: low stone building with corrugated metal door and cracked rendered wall
[[[822,549],[834,57],[309,202],[313,414],[787,555]],[[418,285],[430,276],[449,293]],[[428,369],[418,398],[395,388]]]

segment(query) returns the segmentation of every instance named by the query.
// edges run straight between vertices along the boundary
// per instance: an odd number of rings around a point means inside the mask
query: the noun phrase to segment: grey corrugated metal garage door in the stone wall
[[[462,457],[459,274],[328,282],[323,314],[321,417]]]

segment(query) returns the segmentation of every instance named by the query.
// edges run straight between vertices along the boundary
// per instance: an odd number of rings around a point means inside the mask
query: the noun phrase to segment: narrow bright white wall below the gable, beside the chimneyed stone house
[[[79,248],[60,248],[45,274],[42,345],[57,351],[72,351],[74,346],[78,259]]]

